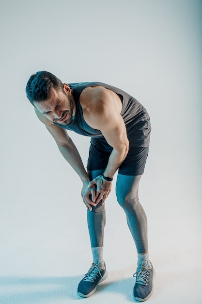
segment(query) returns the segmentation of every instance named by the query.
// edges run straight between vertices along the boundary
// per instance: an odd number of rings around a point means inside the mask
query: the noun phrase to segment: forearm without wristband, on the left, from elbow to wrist
[[[62,153],[62,156],[65,158],[65,160],[77,172],[81,181],[83,183],[89,182],[90,181],[89,176],[83,166],[83,162],[81,160],[79,152],[78,152],[75,144],[71,140],[71,138],[69,138],[69,143],[66,145],[58,144],[58,148],[59,148],[60,152]]]

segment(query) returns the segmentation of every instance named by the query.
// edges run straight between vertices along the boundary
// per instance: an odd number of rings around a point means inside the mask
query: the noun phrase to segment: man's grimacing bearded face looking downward
[[[74,100],[71,98],[71,90],[56,91],[51,88],[51,96],[46,101],[35,101],[36,109],[49,120],[61,125],[67,125],[73,121]]]

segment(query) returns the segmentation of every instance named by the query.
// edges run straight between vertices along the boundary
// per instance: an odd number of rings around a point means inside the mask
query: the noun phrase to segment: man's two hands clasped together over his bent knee
[[[96,206],[101,200],[104,205],[111,191],[111,182],[106,181],[102,175],[93,179],[90,183],[85,183],[81,190],[81,196],[86,207],[92,211],[92,206]]]

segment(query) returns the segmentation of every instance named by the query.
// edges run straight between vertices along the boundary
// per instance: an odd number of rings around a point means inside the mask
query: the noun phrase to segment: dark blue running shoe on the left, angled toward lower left
[[[99,269],[98,264],[93,263],[92,267],[78,284],[78,295],[84,298],[91,296],[97,289],[97,285],[107,279],[107,276],[106,266],[104,269]]]

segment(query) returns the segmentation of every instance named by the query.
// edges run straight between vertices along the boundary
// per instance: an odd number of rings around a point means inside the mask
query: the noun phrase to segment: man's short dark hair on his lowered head
[[[34,101],[45,101],[50,98],[51,88],[62,90],[62,81],[47,71],[39,71],[31,75],[26,85],[27,98]]]

